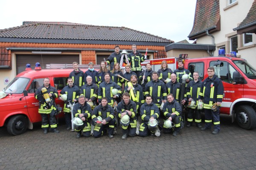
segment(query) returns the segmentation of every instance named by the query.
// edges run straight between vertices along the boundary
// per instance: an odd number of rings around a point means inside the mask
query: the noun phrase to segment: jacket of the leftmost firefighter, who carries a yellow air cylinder
[[[42,93],[42,88],[46,88],[47,92],[52,94],[52,96],[50,97],[51,102],[49,104],[47,102],[45,102],[45,99],[44,99],[43,93]],[[38,113],[49,114],[52,112],[52,109],[56,110],[56,107],[54,107],[55,106],[55,98],[58,98],[58,91],[56,88],[52,87],[50,84],[49,84],[48,88],[45,87],[44,85],[39,87],[35,91],[35,99],[39,100]]]

